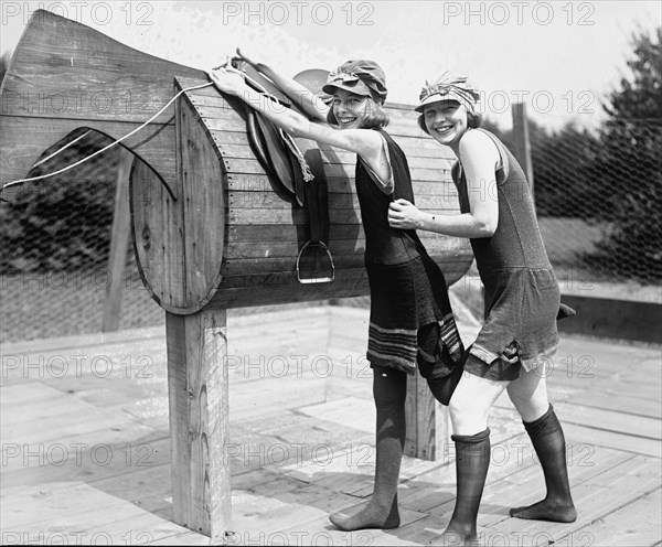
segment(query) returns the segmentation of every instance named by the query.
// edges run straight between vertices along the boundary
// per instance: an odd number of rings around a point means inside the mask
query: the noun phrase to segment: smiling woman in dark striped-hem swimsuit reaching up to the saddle
[[[274,82],[305,116],[271,108],[270,99],[246,85],[232,67],[212,72],[216,86],[245,100],[295,137],[356,153],[355,184],[365,232],[365,269],[371,291],[367,358],[373,368],[377,409],[375,487],[366,506],[352,515],[333,514],[340,529],[399,526],[397,483],[405,444],[407,375],[416,369],[440,403],[448,405],[461,374],[460,341],[444,274],[413,229],[388,226],[394,200],[414,200],[403,150],[383,129],[386,78],[373,61],[348,61],[322,90],[330,106],[303,86],[261,63],[242,60]],[[327,124],[331,124],[329,126]]]

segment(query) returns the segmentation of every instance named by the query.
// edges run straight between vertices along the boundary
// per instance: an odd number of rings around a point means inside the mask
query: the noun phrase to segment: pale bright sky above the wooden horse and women
[[[662,24],[644,1],[0,1],[0,51],[11,53],[42,8],[127,45],[197,68],[235,47],[284,74],[372,58],[388,100],[415,105],[444,71],[470,78],[480,109],[508,128],[524,100],[548,128],[596,127],[601,100],[629,74],[633,32]]]

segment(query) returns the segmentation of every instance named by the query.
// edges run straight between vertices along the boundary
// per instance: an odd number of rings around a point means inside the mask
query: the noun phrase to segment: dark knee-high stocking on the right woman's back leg
[[[565,437],[552,405],[537,420],[524,421],[524,428],[543,468],[547,495],[533,505],[512,508],[511,516],[574,523],[577,519],[577,511],[570,495]]]

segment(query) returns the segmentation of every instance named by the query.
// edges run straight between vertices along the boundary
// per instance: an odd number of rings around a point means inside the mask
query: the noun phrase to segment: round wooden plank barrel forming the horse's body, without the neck
[[[201,83],[178,78],[175,89]],[[213,87],[185,92],[178,100],[177,199],[143,163],[136,163],[131,176],[136,256],[154,300],[167,311],[188,314],[205,307],[367,294],[355,155],[320,148],[335,278],[305,285],[297,279],[296,259],[310,237],[308,212],[257,161],[243,106]],[[458,212],[449,151],[423,133],[412,107],[387,105],[387,130],[407,153],[417,205]],[[466,272],[472,259],[467,240],[420,235],[449,283]]]

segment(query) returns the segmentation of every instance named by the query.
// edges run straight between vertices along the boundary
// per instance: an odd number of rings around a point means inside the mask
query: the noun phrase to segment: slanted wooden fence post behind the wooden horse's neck
[[[127,262],[127,249],[131,233],[128,190],[134,153],[124,147],[119,147],[118,155],[115,213],[113,215],[110,253],[108,256],[108,282],[106,283],[102,332],[117,331],[119,329],[122,274]]]

